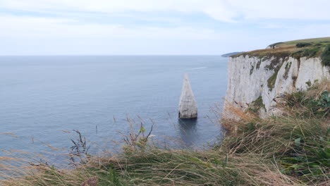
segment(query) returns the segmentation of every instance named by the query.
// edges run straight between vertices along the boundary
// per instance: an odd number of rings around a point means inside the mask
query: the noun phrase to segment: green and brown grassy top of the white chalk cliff
[[[330,66],[330,37],[277,42],[270,44],[267,49],[247,51],[231,57],[237,56],[257,56],[259,58],[268,56],[276,56],[278,58],[286,58],[288,56],[294,58],[321,57],[323,65]]]

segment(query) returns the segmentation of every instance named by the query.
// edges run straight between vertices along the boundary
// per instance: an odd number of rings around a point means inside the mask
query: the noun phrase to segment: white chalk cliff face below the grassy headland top
[[[321,58],[236,56],[228,62],[226,101],[247,108],[258,103],[259,116],[276,113],[273,100],[281,94],[304,90],[330,78]],[[224,108],[226,113],[226,106]],[[230,116],[230,113],[226,114]]]

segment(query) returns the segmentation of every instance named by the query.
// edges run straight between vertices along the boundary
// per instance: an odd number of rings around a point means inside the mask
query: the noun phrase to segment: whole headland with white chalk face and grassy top
[[[276,98],[330,79],[330,37],[271,44],[231,56],[224,116],[228,106],[250,109],[264,118],[276,114]]]

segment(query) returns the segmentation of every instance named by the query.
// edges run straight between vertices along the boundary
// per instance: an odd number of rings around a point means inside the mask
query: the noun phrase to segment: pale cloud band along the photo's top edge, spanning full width
[[[1,8],[24,11],[89,11],[102,13],[179,11],[204,13],[224,22],[238,18],[330,20],[328,0],[1,0]]]

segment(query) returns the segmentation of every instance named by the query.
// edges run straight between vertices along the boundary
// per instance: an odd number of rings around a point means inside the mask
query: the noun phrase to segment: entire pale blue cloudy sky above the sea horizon
[[[221,55],[330,36],[329,0],[0,0],[0,55]]]

